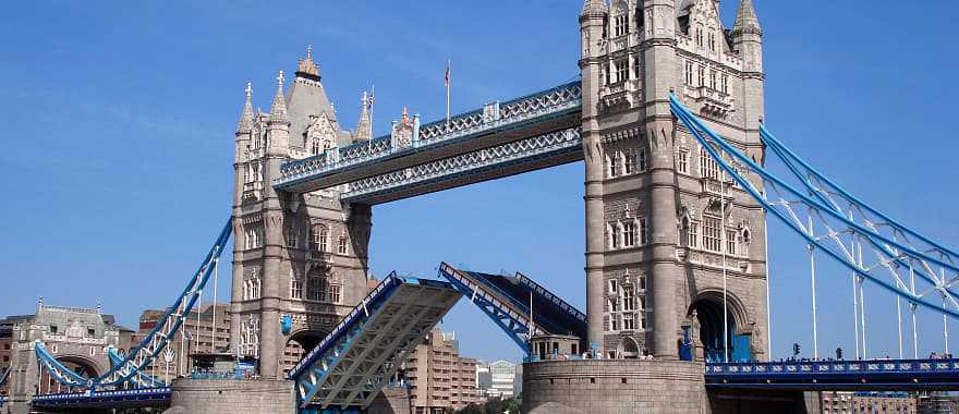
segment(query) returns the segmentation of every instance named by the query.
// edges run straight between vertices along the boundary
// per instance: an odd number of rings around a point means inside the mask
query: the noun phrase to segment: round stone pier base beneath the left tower
[[[209,380],[173,381],[170,410],[165,413],[288,413],[296,412],[294,382],[288,380]]]

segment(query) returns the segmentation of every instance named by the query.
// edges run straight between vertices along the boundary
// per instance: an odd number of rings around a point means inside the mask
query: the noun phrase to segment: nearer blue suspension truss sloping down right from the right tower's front
[[[903,244],[897,242],[893,238],[885,236],[875,232],[873,229],[865,227],[863,224],[857,223],[848,218],[846,218],[842,214],[836,211],[833,207],[824,205],[821,200],[811,198],[804,194],[804,192],[794,188],[793,186],[787,184],[778,176],[769,173],[763,167],[756,165],[752,159],[740,153],[738,149],[732,147],[725,139],[719,137],[715,132],[706,127],[699,119],[696,119],[688,109],[682,107],[676,96],[670,96],[670,105],[672,108],[673,114],[682,121],[685,127],[690,131],[693,137],[700,142],[701,146],[709,154],[709,156],[719,165],[723,170],[728,173],[736,182],[738,182],[746,193],[752,196],[757,203],[760,203],[766,211],[773,214],[773,216],[779,218],[786,226],[792,229],[796,233],[806,240],[808,243],[814,245],[821,252],[825,253],[827,256],[836,259],[841,265],[846,266],[858,276],[869,279],[873,283],[878,284],[883,289],[886,289],[897,295],[900,295],[908,301],[911,301],[914,304],[922,305],[937,313],[944,313],[951,317],[959,318],[959,312],[954,309],[945,308],[944,306],[939,306],[938,304],[934,304],[926,300],[924,295],[916,294],[914,291],[910,292],[909,289],[906,289],[907,285],[903,281],[903,278],[897,275],[899,269],[896,267],[896,263],[902,258],[908,260],[916,260],[923,263],[931,263],[937,266],[940,266],[944,271],[948,270],[950,275],[959,272],[959,268],[949,263],[939,260],[937,258],[931,257],[926,254],[916,252]],[[704,136],[705,135],[705,136]],[[708,136],[708,139],[706,138]],[[714,145],[718,146],[719,149],[714,147]],[[760,179],[763,180],[763,184],[772,187],[776,192],[785,193],[789,196],[789,199],[799,199],[805,208],[809,208],[811,212],[811,219],[815,219],[821,226],[826,227],[828,229],[827,234],[822,238],[816,238],[806,230],[802,220],[800,220],[797,216],[797,211],[791,208],[790,202],[786,199],[786,197],[780,197],[779,202],[770,203],[766,199],[764,193],[762,193],[757,187],[745,176],[743,176],[739,171],[733,169],[730,166],[730,161],[727,161],[719,151],[728,155],[730,159],[735,159],[739,165],[744,166],[748,171],[755,173]],[[879,260],[871,266],[866,266],[862,261],[862,255],[860,253],[860,259],[855,260],[854,252],[850,253],[848,246],[846,246],[838,238],[839,231],[833,229],[834,227],[841,228],[842,231],[851,232],[854,234],[861,244],[865,243],[871,246],[874,246],[874,251],[879,257]],[[833,241],[836,244],[826,244],[825,241]],[[885,256],[882,254],[884,252],[895,251],[896,254],[893,257]],[[896,285],[890,284],[882,279],[879,279],[875,272],[878,270],[889,270],[894,273]],[[930,269],[931,270],[931,269]],[[956,307],[959,307],[959,303],[955,303]]]

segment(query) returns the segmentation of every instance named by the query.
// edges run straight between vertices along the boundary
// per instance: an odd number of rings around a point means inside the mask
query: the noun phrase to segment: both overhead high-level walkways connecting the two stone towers
[[[583,158],[580,82],[418,126],[410,143],[381,136],[281,166],[277,190],[348,184],[347,203],[380,204]]]

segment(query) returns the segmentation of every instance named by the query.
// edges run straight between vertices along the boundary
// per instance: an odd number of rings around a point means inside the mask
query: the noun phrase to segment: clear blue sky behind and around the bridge
[[[736,2],[723,3],[731,25]],[[959,3],[755,3],[768,125],[857,194],[955,246]],[[142,309],[167,306],[230,214],[244,83],[267,109],[277,70],[295,70],[307,42],[344,125],[376,85],[377,134],[403,106],[442,115],[447,58],[454,112],[576,76],[580,1],[466,4],[8,4],[0,315],[32,313],[41,295],[99,300],[135,327]],[[582,182],[576,163],[377,206],[374,272],[434,277],[440,260],[522,270],[583,307]],[[809,354],[805,248],[778,223],[770,232],[775,352],[798,341]],[[824,265],[820,278],[821,349],[850,355],[849,276]],[[866,301],[872,356],[895,355],[895,300],[872,289]],[[920,326],[923,353],[942,348],[942,320],[923,315]],[[442,328],[466,355],[520,355],[465,301]],[[951,329],[959,349],[959,324]]]

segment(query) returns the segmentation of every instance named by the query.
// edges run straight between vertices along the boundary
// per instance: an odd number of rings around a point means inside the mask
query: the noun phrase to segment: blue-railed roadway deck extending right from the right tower
[[[708,363],[711,388],[959,389],[959,360]]]

